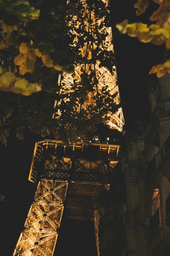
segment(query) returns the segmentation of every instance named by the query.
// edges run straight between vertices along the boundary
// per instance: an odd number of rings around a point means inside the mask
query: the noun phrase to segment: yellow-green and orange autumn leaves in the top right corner
[[[170,49],[170,1],[152,0],[159,5],[159,8],[153,12],[150,20],[156,22],[148,26],[141,22],[129,24],[128,20],[116,25],[122,34],[127,33],[131,37],[137,37],[143,43],[152,43],[161,45],[165,43],[166,49]],[[141,15],[148,8],[148,0],[138,0],[134,5],[136,15]],[[166,72],[170,73],[170,60],[157,66],[153,66],[149,74],[156,73],[157,77],[162,77]]]

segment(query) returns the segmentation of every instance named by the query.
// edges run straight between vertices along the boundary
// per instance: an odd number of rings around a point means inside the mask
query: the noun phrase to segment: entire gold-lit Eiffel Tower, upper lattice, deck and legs
[[[94,13],[86,0],[81,2],[86,31],[93,34]],[[107,8],[108,1],[103,2]],[[100,20],[97,22],[100,24]],[[107,51],[113,51],[111,27],[105,27],[105,33]],[[94,48],[93,42],[87,42],[81,49],[82,56],[91,59]],[[106,86],[109,94],[114,95],[113,102],[120,103],[116,67],[111,74],[106,67],[100,67],[99,61],[91,65],[78,64],[73,74],[60,74],[58,84],[61,89],[58,93],[71,92],[73,80],[80,81],[82,73],[90,74],[92,71],[95,72],[96,87],[79,104],[77,111],[86,109],[89,104],[95,105],[94,97]],[[60,118],[60,102],[55,101],[54,107],[57,107],[57,112],[53,118]],[[121,107],[115,113],[108,112],[107,116],[109,121],[106,124],[122,132],[124,119]],[[118,162],[119,148],[120,145],[109,144],[109,138],[100,142],[97,137],[87,141],[80,139],[69,145],[64,145],[62,140],[43,140],[35,144],[29,180],[37,188],[13,256],[52,256],[63,211],[68,219],[94,221],[99,256],[99,194],[109,190],[109,176]]]

